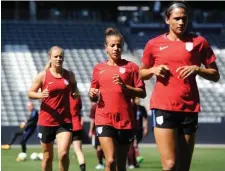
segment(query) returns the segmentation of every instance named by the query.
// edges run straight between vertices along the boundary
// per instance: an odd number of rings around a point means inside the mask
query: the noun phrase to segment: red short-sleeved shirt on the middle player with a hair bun
[[[124,59],[121,59],[118,66],[110,66],[107,62],[103,62],[94,67],[91,87],[100,91],[95,125],[109,125],[116,129],[133,128],[131,97],[123,93],[120,85],[113,83],[113,76],[118,74],[125,84],[144,88],[138,70],[135,63]]]

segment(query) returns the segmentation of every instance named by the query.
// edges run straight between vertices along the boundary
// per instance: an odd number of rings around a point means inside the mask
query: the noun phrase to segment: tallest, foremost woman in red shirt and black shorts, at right
[[[216,82],[220,75],[209,43],[202,36],[185,32],[188,23],[185,3],[170,4],[165,21],[169,32],[146,44],[140,76],[143,80],[153,75],[157,78],[150,106],[163,170],[175,170],[178,164],[177,170],[188,171],[200,111],[195,77]]]

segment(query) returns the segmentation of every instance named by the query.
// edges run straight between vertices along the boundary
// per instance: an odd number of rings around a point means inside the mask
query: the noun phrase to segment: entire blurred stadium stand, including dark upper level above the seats
[[[36,2],[36,11],[32,13],[29,2],[2,2],[2,126],[16,126],[27,118],[26,91],[34,76],[47,63],[51,46],[59,45],[65,50],[64,67],[76,74],[83,114],[88,121],[92,69],[107,58],[104,30],[110,26],[119,28],[126,41],[124,57],[138,64],[147,41],[167,30],[163,10],[168,2],[68,4]],[[218,2],[218,10],[210,10],[209,4],[206,2],[206,9],[203,9],[204,5],[194,8],[192,2],[189,3],[192,12],[188,29],[210,42],[221,74],[218,83],[197,77],[202,103],[200,122],[221,123],[225,121],[225,5]],[[35,16],[31,17],[31,14]],[[152,90],[154,81],[146,82],[147,90]],[[149,96],[142,101],[146,107],[149,106]],[[34,103],[40,105],[40,101]]]

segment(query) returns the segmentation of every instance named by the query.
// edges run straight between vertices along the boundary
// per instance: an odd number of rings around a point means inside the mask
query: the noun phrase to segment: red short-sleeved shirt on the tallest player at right
[[[171,41],[164,34],[150,40],[144,49],[143,64],[147,68],[167,65],[170,70],[167,80],[157,78],[150,108],[199,112],[200,99],[195,75],[179,79],[176,69],[201,64],[207,66],[215,60],[209,43],[201,36],[189,33],[183,41]]]

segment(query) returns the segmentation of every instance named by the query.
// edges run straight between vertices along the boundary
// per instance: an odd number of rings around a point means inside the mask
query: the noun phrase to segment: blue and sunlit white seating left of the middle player
[[[27,118],[26,92],[48,61],[53,45],[65,51],[64,67],[72,70],[88,119],[90,86],[94,65],[106,59],[104,30],[111,23],[2,22],[2,125],[18,125]],[[17,28],[17,29],[15,29]],[[34,101],[39,108],[40,101]]]

